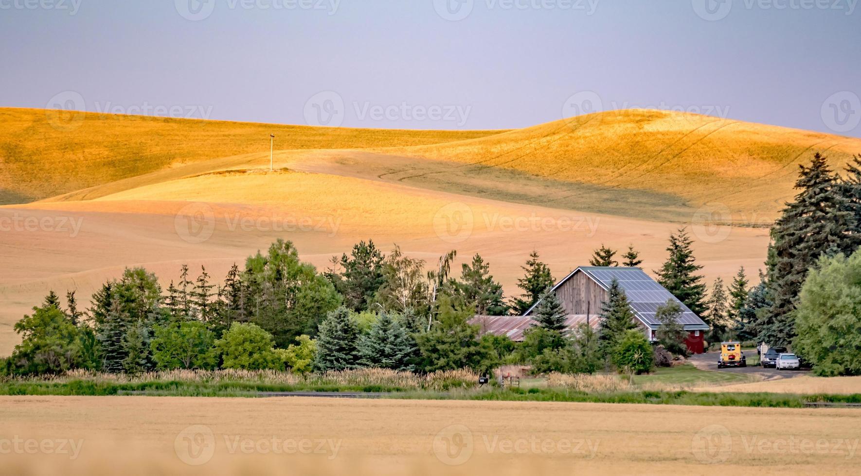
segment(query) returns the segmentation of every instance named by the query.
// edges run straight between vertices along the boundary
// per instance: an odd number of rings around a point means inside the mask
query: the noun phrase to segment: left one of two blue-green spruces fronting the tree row
[[[329,313],[319,325],[317,358],[314,369],[356,369],[359,366],[359,328],[350,316],[350,309],[338,308]]]

